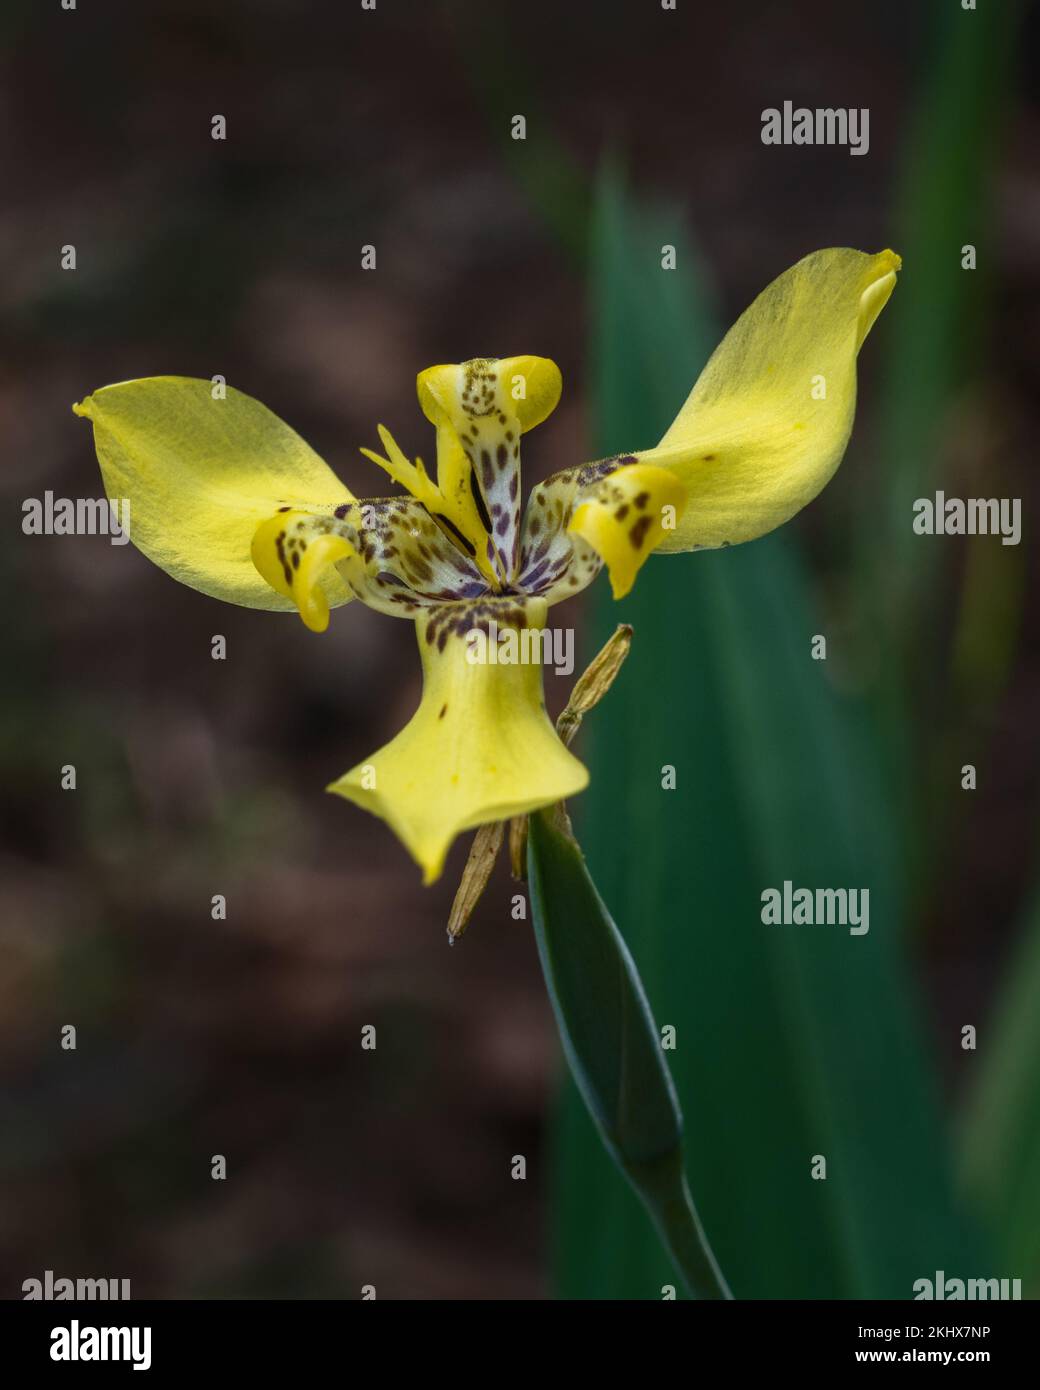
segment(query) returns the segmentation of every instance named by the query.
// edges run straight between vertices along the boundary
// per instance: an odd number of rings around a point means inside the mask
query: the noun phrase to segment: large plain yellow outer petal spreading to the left
[[[182,584],[246,607],[292,599],[257,573],[250,546],[279,506],[321,507],[352,495],[314,450],[259,400],[209,381],[147,377],[103,386],[81,404],[110,498],[129,500],[131,539]],[[328,600],[350,591],[330,571]]]

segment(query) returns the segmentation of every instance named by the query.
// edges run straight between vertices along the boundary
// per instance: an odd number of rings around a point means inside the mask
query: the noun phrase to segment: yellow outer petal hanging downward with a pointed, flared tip
[[[431,609],[416,623],[423,699],[398,737],[328,788],[382,817],[432,883],[457,834],[573,796],[588,783],[545,713],[542,666],[524,631],[545,627],[541,599]],[[499,644],[467,638],[495,621]],[[512,634],[512,637],[509,637]],[[498,660],[480,660],[495,653]],[[531,652],[528,651],[528,656]]]

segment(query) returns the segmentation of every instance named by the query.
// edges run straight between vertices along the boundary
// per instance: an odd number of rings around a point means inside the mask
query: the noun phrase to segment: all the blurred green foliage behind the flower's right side
[[[936,556],[908,548],[907,517],[943,486],[950,407],[977,370],[1018,6],[970,28],[934,15],[891,235],[909,272],[869,349],[883,352],[884,467],[852,538],[851,606],[880,652],[876,687],[840,696],[808,659],[822,621],[788,534],[652,563],[621,610],[598,591],[599,632],[620,616],[635,642],[591,721],[598,795],[583,842],[659,1022],[679,1030],[691,1186],[737,1297],[908,1298],[930,1270],[983,1272],[993,1257],[1026,1289],[1040,1273],[1040,912],[1026,913],[964,1116],[970,1205],[954,1193],[904,954],[955,828],[939,769],[948,781],[958,733],[984,728],[1007,681],[1025,578],[1016,555],[969,562],[948,649],[929,635]],[[666,242],[680,247],[669,277]],[[681,242],[674,217],[637,207],[608,174],[591,268],[601,453],[656,441],[717,338]],[[991,475],[987,491],[1000,491]],[[869,935],[762,929],[761,888],[784,878],[869,887]],[[816,1154],[826,1182],[809,1176]],[[560,1291],[659,1297],[667,1257],[570,1086],[558,1159]]]

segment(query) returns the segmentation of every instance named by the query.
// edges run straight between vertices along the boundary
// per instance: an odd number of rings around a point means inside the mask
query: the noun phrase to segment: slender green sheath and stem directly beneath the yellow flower
[[[581,851],[552,812],[531,817],[527,863],[538,955],[588,1112],[688,1291],[726,1297],[685,1184],[679,1101],[640,976]]]

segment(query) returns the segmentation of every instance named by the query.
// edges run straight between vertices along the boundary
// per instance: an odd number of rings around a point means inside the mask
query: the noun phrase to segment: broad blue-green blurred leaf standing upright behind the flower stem
[[[663,243],[680,270],[662,272]],[[656,441],[717,341],[695,268],[679,220],[631,207],[608,177],[599,453]],[[763,265],[762,284],[780,270]],[[929,1270],[980,1268],[977,1247],[952,1198],[902,954],[893,787],[865,710],[829,680],[838,638],[791,530],[655,557],[620,607],[594,591],[594,638],[617,620],[635,632],[588,720],[581,838],[656,1016],[677,1030],[691,1188],[734,1294],[908,1298]],[[830,663],[811,660],[815,634]],[[784,880],[869,890],[869,931],[763,924],[761,894]],[[559,1129],[559,1287],[659,1297],[667,1261],[577,1106],[564,1098]],[[815,1155],[826,1180],[811,1176]]]

